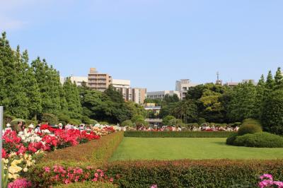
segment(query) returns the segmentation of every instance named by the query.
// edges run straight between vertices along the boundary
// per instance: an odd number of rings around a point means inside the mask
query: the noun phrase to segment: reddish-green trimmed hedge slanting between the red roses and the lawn
[[[53,151],[47,153],[45,158],[41,160],[42,165],[67,164],[74,167],[77,165],[102,165],[112,156],[122,139],[123,133],[118,131],[102,136],[98,140]]]

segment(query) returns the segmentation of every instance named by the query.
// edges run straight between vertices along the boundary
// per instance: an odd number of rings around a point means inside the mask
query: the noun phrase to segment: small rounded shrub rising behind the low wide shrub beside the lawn
[[[243,121],[243,124],[238,130],[238,135],[242,136],[244,134],[254,134],[261,131],[260,122],[255,119],[246,119]]]

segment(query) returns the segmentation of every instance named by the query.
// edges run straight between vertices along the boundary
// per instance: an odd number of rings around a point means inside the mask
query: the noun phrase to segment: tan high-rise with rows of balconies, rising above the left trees
[[[91,68],[88,74],[88,87],[93,90],[105,91],[112,84],[112,76],[98,73],[95,68]]]

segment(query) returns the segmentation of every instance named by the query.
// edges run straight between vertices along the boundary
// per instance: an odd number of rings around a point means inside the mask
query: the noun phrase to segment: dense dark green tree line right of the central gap
[[[269,71],[257,85],[240,83],[233,88],[206,83],[190,88],[185,100],[160,102],[161,118],[172,115],[183,123],[232,123],[254,118],[265,130],[283,134],[283,76]]]

